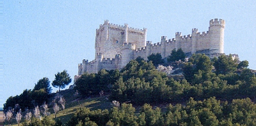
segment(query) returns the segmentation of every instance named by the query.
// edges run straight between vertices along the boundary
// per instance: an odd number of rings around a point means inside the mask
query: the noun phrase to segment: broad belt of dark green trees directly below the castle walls
[[[99,95],[103,90],[109,99],[144,103],[186,102],[190,97],[203,100],[216,97],[223,101],[249,97],[255,100],[256,78],[246,61],[237,63],[231,55],[209,59],[196,54],[184,63],[184,80],[168,78],[157,71],[151,61],[138,57],[121,71],[102,69],[97,74],[83,74],[75,89],[84,96]],[[213,69],[215,67],[215,69]],[[237,69],[240,74],[234,73]]]

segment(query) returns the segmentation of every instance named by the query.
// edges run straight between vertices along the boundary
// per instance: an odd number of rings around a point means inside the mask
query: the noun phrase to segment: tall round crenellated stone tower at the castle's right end
[[[209,27],[209,41],[212,53],[224,53],[224,29],[225,29],[225,20],[218,20],[215,18],[214,20],[210,20]]]

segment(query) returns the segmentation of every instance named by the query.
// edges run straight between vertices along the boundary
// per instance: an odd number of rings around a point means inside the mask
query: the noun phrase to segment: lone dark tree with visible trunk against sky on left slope
[[[60,88],[63,89],[71,82],[71,78],[66,70],[62,71],[61,73],[55,74],[55,80],[52,81],[52,86],[58,88],[59,92]]]

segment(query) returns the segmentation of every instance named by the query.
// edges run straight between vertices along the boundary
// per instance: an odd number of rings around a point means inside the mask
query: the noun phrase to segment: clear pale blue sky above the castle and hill
[[[237,53],[240,60],[249,61],[250,69],[256,69],[255,8],[255,0],[4,1],[0,104],[32,89],[44,77],[52,82],[54,74],[64,69],[74,80],[77,64],[95,58],[95,29],[104,20],[145,27],[147,41],[157,43],[161,36],[175,38],[175,32],[188,35],[193,28],[206,32],[209,20],[221,18],[226,22],[224,52]]]

